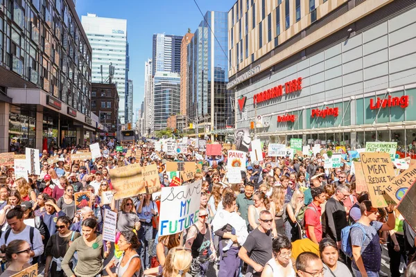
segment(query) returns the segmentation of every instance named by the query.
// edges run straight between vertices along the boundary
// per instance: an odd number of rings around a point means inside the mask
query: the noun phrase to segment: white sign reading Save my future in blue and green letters
[[[198,220],[202,180],[187,186],[162,188],[159,237],[180,233]]]

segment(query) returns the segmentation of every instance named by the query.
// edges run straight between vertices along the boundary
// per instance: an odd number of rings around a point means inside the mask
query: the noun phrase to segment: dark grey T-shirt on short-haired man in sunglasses
[[[243,247],[250,259],[261,266],[272,258],[272,232],[263,233],[259,228],[254,229],[245,240]]]

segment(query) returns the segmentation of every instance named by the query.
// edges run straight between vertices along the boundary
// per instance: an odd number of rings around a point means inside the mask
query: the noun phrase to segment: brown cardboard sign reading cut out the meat
[[[382,208],[388,206],[388,202],[394,204],[391,197],[385,194],[385,186],[389,186],[395,177],[390,155],[364,152],[360,153],[360,158],[372,206]]]

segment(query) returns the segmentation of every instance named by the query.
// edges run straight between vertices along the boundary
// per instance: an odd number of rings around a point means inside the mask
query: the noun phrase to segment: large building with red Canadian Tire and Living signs
[[[414,151],[415,1],[237,1],[228,21],[238,128],[260,118],[264,141]]]

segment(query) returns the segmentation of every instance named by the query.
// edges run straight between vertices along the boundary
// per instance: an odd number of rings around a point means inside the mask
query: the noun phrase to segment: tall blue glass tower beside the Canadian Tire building
[[[234,125],[234,94],[226,89],[227,37],[227,12],[209,11],[187,48],[187,116],[219,135]]]

